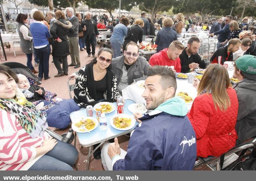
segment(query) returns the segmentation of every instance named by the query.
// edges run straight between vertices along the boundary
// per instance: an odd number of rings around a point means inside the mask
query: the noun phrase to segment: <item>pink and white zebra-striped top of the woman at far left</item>
[[[0,170],[28,170],[40,157],[36,147],[41,147],[44,137],[32,139],[22,128],[15,115],[0,109]]]

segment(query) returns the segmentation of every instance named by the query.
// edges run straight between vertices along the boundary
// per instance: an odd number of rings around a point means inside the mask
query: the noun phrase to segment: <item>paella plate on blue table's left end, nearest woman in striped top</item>
[[[77,119],[75,122],[72,122],[72,129],[75,132],[91,132],[97,128],[99,122],[94,117],[82,117]]]

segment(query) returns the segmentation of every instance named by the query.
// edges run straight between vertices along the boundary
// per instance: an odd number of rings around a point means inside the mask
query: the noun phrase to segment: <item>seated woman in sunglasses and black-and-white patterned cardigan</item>
[[[78,71],[74,100],[81,109],[87,105],[94,106],[103,101],[116,102],[116,98],[120,94],[117,90],[115,73],[110,69],[112,56],[109,43],[108,45],[102,44],[98,56]],[[98,145],[93,145],[93,149]],[[93,153],[93,157],[100,159],[100,154],[100,148],[98,148]]]

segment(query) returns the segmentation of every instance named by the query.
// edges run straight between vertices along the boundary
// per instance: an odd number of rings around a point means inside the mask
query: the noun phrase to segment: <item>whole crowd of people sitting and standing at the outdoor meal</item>
[[[18,15],[21,49],[31,71],[38,73],[40,79],[50,78],[50,44],[58,71],[54,77],[68,75],[68,67],[79,68],[79,49],[86,49],[93,60],[68,76],[76,79],[74,101],[80,109],[102,101],[116,102],[123,89],[145,80],[142,97],[146,108],[153,110],[144,116],[134,113],[139,125],[131,133],[127,151],[120,149],[115,138],[113,143],[93,153],[95,159],[101,158],[105,170],[192,170],[196,156],[220,156],[256,136],[256,42],[249,31],[248,18],[238,24],[228,15],[223,28],[219,20],[211,20],[210,36],[219,36],[217,50],[211,64],[207,64],[198,54],[199,38],[191,37],[186,45],[177,40],[184,25],[193,24],[182,13],[176,19],[158,19],[157,53],[148,61],[139,55],[138,44],[150,35],[156,18],[151,22],[144,11],[133,22],[127,17],[114,19],[105,14],[98,20],[97,16],[92,18],[91,12],[86,12],[82,19],[70,7],[66,13],[47,12],[49,23],[36,9],[31,11],[32,20],[28,21],[27,14]],[[110,26],[114,26],[110,40],[96,53],[98,28]],[[195,33],[195,25],[188,32]],[[39,72],[32,65],[33,53],[39,60]],[[222,66],[225,61],[233,60],[236,60],[233,77],[239,80],[234,86]],[[194,79],[197,97],[188,112],[185,101],[175,96],[175,73],[197,68],[205,72],[201,80]],[[20,88],[24,88],[27,80],[18,77],[0,65],[0,170],[73,170],[76,148],[45,132],[45,115],[26,100]]]

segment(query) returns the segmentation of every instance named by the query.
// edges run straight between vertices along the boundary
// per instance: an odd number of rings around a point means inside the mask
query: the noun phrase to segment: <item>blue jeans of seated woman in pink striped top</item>
[[[77,156],[74,146],[58,141],[51,151],[39,158],[28,170],[74,170],[72,166]]]

